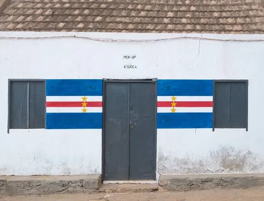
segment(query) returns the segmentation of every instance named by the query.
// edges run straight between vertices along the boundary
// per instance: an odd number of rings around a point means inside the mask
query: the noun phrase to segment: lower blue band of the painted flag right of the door
[[[212,128],[213,113],[158,113],[158,129]]]

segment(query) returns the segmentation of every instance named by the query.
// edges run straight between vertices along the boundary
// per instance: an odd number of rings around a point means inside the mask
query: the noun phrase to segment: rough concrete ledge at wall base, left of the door
[[[98,192],[101,175],[0,176],[0,195]]]

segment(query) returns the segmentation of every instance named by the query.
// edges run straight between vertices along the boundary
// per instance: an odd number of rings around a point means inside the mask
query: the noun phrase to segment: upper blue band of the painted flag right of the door
[[[212,96],[211,79],[158,79],[157,94],[160,96]]]

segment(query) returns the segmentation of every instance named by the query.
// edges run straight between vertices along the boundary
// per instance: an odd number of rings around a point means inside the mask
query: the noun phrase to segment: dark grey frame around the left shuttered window
[[[45,107],[44,107],[44,128],[41,129],[46,129],[46,79],[8,79],[8,134],[10,134],[10,92],[11,92],[11,82],[16,82],[16,81],[24,81],[24,82],[44,82],[44,89],[45,89]],[[14,129],[14,130],[31,130],[31,129]]]

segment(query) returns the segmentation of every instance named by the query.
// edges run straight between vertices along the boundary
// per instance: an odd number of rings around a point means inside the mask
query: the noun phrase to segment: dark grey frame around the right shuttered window
[[[213,132],[215,129],[215,83],[216,82],[244,82],[246,84],[246,131],[248,131],[248,79],[214,79],[213,81]],[[224,128],[224,129],[233,129],[233,128]],[[237,129],[244,129],[244,128],[237,128]]]

